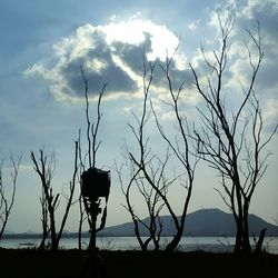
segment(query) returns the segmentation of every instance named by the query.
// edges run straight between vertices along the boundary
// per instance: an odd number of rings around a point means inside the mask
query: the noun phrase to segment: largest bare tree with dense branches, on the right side
[[[221,33],[220,50],[212,52],[214,61],[202,50],[203,60],[210,71],[205,86],[200,82],[200,75],[190,64],[195,86],[206,105],[205,109],[199,109],[202,127],[196,129],[193,136],[198,153],[219,172],[224,190],[217,191],[231,210],[237,226],[235,252],[250,252],[249,207],[255,189],[267,169],[266,160],[270,153],[264,152],[265,147],[275,135],[277,126],[264,140],[261,109],[255,93],[255,81],[264,58],[259,23],[257,33],[247,30],[250,40],[249,43],[245,42],[250,66],[249,83],[241,86],[241,102],[229,112],[229,95],[224,79],[229,66],[229,36],[235,24],[235,16],[229,13],[224,19],[218,13],[218,22]]]

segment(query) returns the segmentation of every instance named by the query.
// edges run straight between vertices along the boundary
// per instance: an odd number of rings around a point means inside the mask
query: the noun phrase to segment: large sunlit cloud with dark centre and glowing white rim
[[[72,101],[83,98],[82,67],[92,98],[103,83],[108,83],[107,97],[130,97],[142,88],[143,53],[148,61],[163,61],[166,56],[175,53],[178,43],[175,33],[149,20],[133,18],[106,26],[85,24],[58,41],[47,62],[34,63],[24,75],[47,81],[56,100]],[[176,53],[177,73],[185,69],[185,56]]]

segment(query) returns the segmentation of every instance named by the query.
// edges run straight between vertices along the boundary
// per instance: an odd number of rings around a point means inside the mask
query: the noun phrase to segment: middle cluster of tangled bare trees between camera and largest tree
[[[171,76],[171,58],[167,58],[165,64],[162,63],[148,63],[143,60],[143,100],[141,115],[135,117],[135,125],[129,123],[129,128],[136,139],[137,150],[127,149],[128,162],[126,167],[129,169],[129,182],[127,187],[122,186],[120,169],[118,173],[121,182],[121,188],[126,197],[126,209],[130,212],[135,224],[135,231],[138,241],[142,250],[147,249],[150,241],[153,242],[155,248],[159,249],[159,240],[163,229],[163,224],[160,219],[162,209],[167,211],[173,222],[176,234],[172,236],[168,245],[167,251],[172,251],[177,248],[185,228],[185,221],[191,192],[193,188],[195,169],[198,162],[197,156],[192,155],[193,149],[190,148],[190,137],[188,133],[188,122],[181,117],[179,108],[179,96],[182,91],[183,82],[180,83],[177,90],[172,86]],[[175,115],[175,136],[167,135],[159,117],[153,108],[150,88],[155,77],[156,67],[160,68],[166,79],[170,102],[165,103],[171,108]],[[146,135],[148,121],[152,119],[155,128],[157,128],[160,139],[165,142],[165,156],[157,155],[151,149],[151,138]],[[162,150],[161,150],[162,151]],[[169,169],[171,167],[172,159],[180,165],[181,173],[169,176]],[[168,169],[168,170],[167,170]],[[180,185],[182,191],[181,211],[179,215],[173,210],[172,200],[169,198],[169,190],[173,185]],[[132,186],[139,190],[143,197],[143,201],[147,203],[148,216],[150,218],[149,224],[143,222],[136,214],[132,207],[130,189]],[[143,225],[149,231],[149,238],[143,242],[140,237],[138,224]]]

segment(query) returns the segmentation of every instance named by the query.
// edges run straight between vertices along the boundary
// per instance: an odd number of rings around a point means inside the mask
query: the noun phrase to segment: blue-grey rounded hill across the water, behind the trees
[[[161,217],[163,222],[162,236],[171,236],[175,234],[175,227],[171,217]],[[143,220],[149,222],[149,218]],[[146,228],[140,225],[141,235],[147,235]],[[278,226],[271,225],[264,219],[249,215],[250,236],[258,236],[260,230],[267,228],[266,236],[278,236]],[[135,236],[133,222],[126,222],[112,227],[105,228],[99,236]],[[195,237],[218,237],[218,236],[236,236],[236,225],[231,214],[224,212],[219,209],[201,209],[192,214],[188,214],[183,236]]]

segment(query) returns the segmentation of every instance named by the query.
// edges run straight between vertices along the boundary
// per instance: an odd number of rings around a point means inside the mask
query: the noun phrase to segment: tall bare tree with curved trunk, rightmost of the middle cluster
[[[178,50],[177,49],[176,51]],[[186,222],[186,217],[187,217],[187,210],[188,206],[191,199],[192,195],[192,189],[195,185],[195,170],[198,165],[199,158],[197,157],[197,153],[195,152],[192,146],[191,146],[191,137],[190,137],[190,130],[189,130],[189,122],[188,118],[183,116],[181,109],[180,109],[180,102],[181,102],[181,92],[183,90],[185,81],[181,81],[180,83],[173,82],[175,76],[172,73],[172,66],[173,66],[173,58],[175,58],[176,52],[173,53],[172,57],[166,58],[165,63],[160,63],[160,69],[165,73],[165,78],[167,80],[168,85],[168,95],[170,96],[169,102],[165,102],[168,107],[170,107],[171,111],[173,112],[175,116],[175,130],[176,133],[173,138],[170,137],[170,135],[167,135],[162,125],[159,121],[159,118],[157,117],[157,113],[151,105],[152,112],[156,118],[156,125],[158,127],[158,130],[162,137],[162,139],[167,142],[169,148],[171,149],[177,163],[181,167],[182,169],[182,181],[179,181],[183,189],[183,203],[182,203],[182,209],[181,209],[181,215],[180,217],[177,217],[175,215],[173,210],[171,210],[170,205],[168,203],[168,199],[165,198],[165,203],[170,212],[170,216],[173,219],[173,224],[176,227],[176,235],[173,236],[172,240],[169,242],[167,246],[166,250],[175,250],[183,235],[183,229],[185,229],[185,222]],[[177,87],[177,89],[175,89]],[[158,191],[160,192],[160,191]],[[163,196],[160,195],[161,198],[163,199]]]

